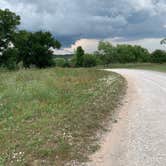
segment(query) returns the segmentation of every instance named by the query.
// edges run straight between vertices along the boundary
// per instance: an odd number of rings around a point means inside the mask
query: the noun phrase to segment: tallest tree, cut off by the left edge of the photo
[[[17,30],[17,26],[20,24],[20,17],[8,9],[0,9],[0,64],[3,60],[7,60],[4,56],[7,56],[6,50],[9,48],[10,42],[12,42],[13,34]],[[11,51],[11,49],[9,49]],[[5,52],[5,54],[4,54]],[[7,51],[8,52],[8,51]],[[15,56],[16,54],[12,54]],[[13,58],[14,59],[14,58]],[[6,61],[5,61],[6,64]]]

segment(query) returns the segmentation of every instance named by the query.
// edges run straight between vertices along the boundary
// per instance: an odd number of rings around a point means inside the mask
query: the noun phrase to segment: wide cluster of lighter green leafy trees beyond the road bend
[[[98,56],[103,64],[148,62],[150,54],[141,46],[121,44],[113,46],[109,42],[99,42]]]

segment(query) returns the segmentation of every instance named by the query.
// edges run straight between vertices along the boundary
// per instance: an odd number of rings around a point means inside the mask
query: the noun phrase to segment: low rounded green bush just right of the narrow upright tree
[[[97,65],[97,58],[91,54],[85,54],[83,56],[83,67],[93,67]]]

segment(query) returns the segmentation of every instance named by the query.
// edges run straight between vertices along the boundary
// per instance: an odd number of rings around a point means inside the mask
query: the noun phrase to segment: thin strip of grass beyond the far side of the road
[[[110,68],[128,68],[128,69],[145,69],[166,72],[166,64],[153,63],[127,63],[127,64],[112,64]]]

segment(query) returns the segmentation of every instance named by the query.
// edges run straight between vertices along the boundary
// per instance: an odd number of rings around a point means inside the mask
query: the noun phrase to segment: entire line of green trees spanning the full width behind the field
[[[20,23],[20,16],[8,9],[0,9],[0,67],[93,67],[112,63],[166,62],[166,51],[155,50],[149,53],[141,46],[114,46],[105,41],[99,42],[98,50],[93,54],[86,54],[79,46],[70,59],[55,58],[53,49],[59,49],[61,43],[50,32],[18,30]],[[161,44],[166,44],[166,39]]]

